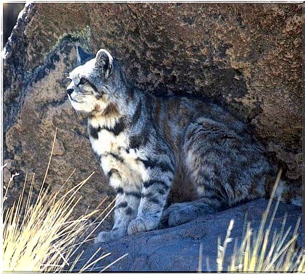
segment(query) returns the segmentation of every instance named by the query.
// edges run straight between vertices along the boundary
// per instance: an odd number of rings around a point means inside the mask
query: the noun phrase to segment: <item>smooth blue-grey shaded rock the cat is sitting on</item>
[[[240,244],[244,220],[250,222],[253,233],[257,232],[267,203],[265,199],[258,199],[213,215],[202,216],[193,222],[178,227],[138,233],[126,236],[110,244],[92,245],[85,250],[82,256],[83,260],[75,269],[81,268],[83,262],[87,261],[98,248],[101,248],[91,261],[100,257],[102,253],[110,252],[111,254],[94,265],[93,270],[95,271],[103,269],[106,265],[127,253],[128,255],[112,265],[108,270],[123,272],[197,271],[199,245],[202,243],[202,270],[217,271],[217,239],[220,236],[221,244],[223,245],[230,220],[234,220],[231,237],[233,239],[238,238],[238,243]],[[274,206],[275,202],[271,206],[270,216]],[[297,218],[301,214],[301,208],[280,203],[272,226],[270,243],[273,233],[281,230],[285,213],[288,215],[285,232],[291,227],[287,237],[290,239]],[[246,219],[245,214],[247,216]],[[266,224],[267,228],[269,221]],[[227,246],[224,269],[227,269],[233,248],[234,241]],[[267,250],[269,249],[267,248]]]

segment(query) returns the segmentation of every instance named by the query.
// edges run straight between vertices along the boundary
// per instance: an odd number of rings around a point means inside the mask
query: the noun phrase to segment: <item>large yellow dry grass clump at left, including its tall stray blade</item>
[[[33,176],[26,198],[24,198],[24,190],[27,178],[25,179],[22,194],[13,206],[4,209],[4,204],[2,204],[1,213],[4,220],[2,269],[4,271],[58,272],[64,269],[73,270],[76,262],[82,256],[81,246],[83,243],[91,240],[90,236],[92,233],[113,210],[114,201],[105,210],[101,211],[98,209],[106,200],[105,198],[92,212],[85,213],[76,218],[76,220],[72,219],[72,212],[81,199],[81,197],[77,198],[77,193],[91,178],[93,173],[61,197],[59,197],[61,190],[49,194],[48,189],[43,187],[52,158],[55,140],[56,133],[48,166],[37,198],[33,198]],[[6,201],[10,184],[17,175],[13,175],[8,185],[4,187],[6,192],[3,203]],[[106,212],[107,214],[105,214]],[[88,224],[88,218],[96,213],[99,214],[93,224]],[[96,222],[103,214],[105,214],[103,220]],[[96,223],[98,225],[89,233],[90,227]],[[92,258],[90,258],[82,264],[81,269],[77,270],[90,270],[97,261],[110,255],[110,253],[104,254],[101,248],[99,248],[95,255],[98,255],[96,260],[92,261]]]

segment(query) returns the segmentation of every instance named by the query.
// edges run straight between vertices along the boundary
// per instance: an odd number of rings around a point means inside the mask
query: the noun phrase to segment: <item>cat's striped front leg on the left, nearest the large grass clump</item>
[[[122,188],[118,188],[117,193],[114,226],[111,231],[100,232],[95,239],[95,243],[107,243],[127,235],[128,225],[136,216],[140,202],[140,192],[124,192]]]

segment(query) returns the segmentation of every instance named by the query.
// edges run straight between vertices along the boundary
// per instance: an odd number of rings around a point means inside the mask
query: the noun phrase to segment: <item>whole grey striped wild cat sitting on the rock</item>
[[[268,195],[275,166],[248,127],[219,105],[138,90],[105,49],[70,79],[71,104],[87,113],[92,149],[117,193],[113,229],[96,242]],[[171,190],[187,197],[164,210]]]

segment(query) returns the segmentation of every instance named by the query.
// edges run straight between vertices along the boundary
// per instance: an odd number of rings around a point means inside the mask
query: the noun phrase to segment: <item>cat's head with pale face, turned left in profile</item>
[[[89,59],[77,48],[78,62]],[[106,49],[99,49],[95,58],[76,67],[70,74],[71,83],[67,87],[69,100],[77,111],[103,112],[115,96],[114,61]]]

